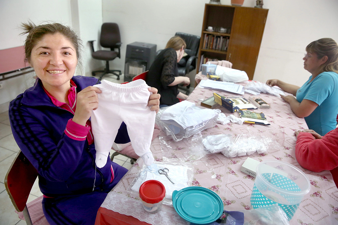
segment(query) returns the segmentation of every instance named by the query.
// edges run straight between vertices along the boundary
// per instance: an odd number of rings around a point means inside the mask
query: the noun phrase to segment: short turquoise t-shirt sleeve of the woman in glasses
[[[319,77],[312,81],[312,85],[306,93],[304,99],[310,100],[320,105],[332,94],[335,88],[335,82],[332,76],[328,73],[322,73],[318,76]]]

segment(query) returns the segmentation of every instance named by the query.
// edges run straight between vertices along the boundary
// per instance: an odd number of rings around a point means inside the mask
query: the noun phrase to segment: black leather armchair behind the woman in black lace
[[[178,63],[178,74],[179,76],[186,76],[191,71],[193,71],[196,68],[196,59],[197,59],[197,53],[199,48],[199,41],[201,39],[200,36],[187,34],[183,32],[176,32],[175,36],[182,37],[187,44],[187,48],[185,49],[185,53],[188,55],[183,57]],[[157,51],[156,53],[159,54],[162,50]],[[179,85],[179,89],[185,90],[186,94],[189,95],[190,93],[190,85],[184,87],[183,85]]]

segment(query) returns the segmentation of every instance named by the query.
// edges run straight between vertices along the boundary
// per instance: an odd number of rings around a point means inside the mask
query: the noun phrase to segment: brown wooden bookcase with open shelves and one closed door
[[[206,4],[198,50],[197,70],[200,71],[200,65],[203,63],[201,62],[202,56],[202,58],[208,59],[227,60],[233,64],[234,69],[245,71],[249,79],[252,80],[267,15],[268,9]],[[210,32],[206,30],[209,26],[212,26],[215,30],[219,30],[220,27],[227,28],[231,32]],[[206,36],[228,38],[226,50],[220,51],[209,42],[206,43],[204,39]]]

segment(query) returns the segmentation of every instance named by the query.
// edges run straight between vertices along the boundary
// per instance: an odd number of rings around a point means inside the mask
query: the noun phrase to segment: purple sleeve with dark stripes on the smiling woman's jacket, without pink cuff
[[[50,181],[65,181],[73,174],[84,140],[73,140],[63,133],[55,142],[50,131],[19,99],[10,103],[9,118],[15,141],[41,176]]]

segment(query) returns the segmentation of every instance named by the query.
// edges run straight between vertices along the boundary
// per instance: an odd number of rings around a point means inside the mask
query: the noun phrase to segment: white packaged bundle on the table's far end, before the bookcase
[[[239,83],[249,80],[245,71],[232,69],[224,66],[217,65],[215,75],[219,76],[221,81]]]

